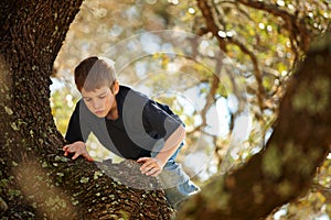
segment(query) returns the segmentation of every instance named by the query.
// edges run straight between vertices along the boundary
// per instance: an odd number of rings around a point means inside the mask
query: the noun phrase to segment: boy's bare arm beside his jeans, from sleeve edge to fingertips
[[[156,157],[141,157],[137,162],[143,163],[140,167],[142,174],[149,176],[158,176],[168,160],[174,154],[185,138],[185,129],[183,125],[179,128],[167,139],[162,151]]]

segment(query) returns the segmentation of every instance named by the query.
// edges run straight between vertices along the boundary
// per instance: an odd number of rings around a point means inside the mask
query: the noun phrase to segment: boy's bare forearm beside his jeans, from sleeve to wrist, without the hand
[[[166,141],[162,150],[156,156],[156,158],[161,163],[162,167],[166,165],[168,160],[174,154],[180,144],[185,139],[185,129],[180,125]]]

